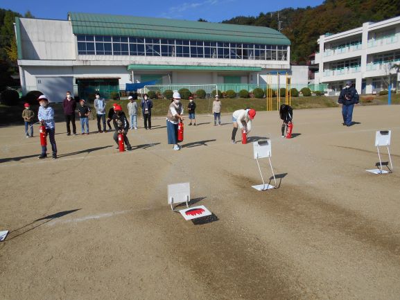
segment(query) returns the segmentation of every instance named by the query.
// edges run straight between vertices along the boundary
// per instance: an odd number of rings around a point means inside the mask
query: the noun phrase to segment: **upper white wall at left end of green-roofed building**
[[[20,20],[24,60],[75,60],[75,42],[69,21]]]

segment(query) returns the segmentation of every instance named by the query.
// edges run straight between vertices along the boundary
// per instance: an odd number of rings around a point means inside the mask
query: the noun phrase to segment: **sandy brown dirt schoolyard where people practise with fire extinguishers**
[[[230,114],[220,127],[186,121],[180,151],[165,118],[147,131],[139,119],[123,153],[112,132],[67,136],[56,123],[56,160],[37,159],[37,127],[33,139],[0,127],[0,299],[399,299],[399,115],[355,107],[346,127],[340,108],[295,110],[282,139],[279,114],[257,113],[250,141],[271,139],[278,186],[262,192],[252,143],[230,143]],[[392,174],[365,171],[376,130],[392,130]],[[178,182],[214,215],[171,211]]]

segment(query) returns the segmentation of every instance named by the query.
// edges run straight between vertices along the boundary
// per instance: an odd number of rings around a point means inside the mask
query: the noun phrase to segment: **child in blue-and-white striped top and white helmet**
[[[53,151],[53,159],[57,159],[57,145],[55,144],[55,123],[54,123],[54,109],[49,106],[49,100],[47,96],[42,95],[37,99],[39,100],[39,111],[37,112],[37,118],[44,127],[46,127],[46,136],[49,135],[51,150]],[[47,146],[42,145],[42,154],[38,159],[45,159],[47,157]]]

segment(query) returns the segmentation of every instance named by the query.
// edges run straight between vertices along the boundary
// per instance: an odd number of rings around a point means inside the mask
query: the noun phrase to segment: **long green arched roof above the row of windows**
[[[261,26],[69,12],[75,35],[121,35],[211,42],[290,45],[279,31]]]

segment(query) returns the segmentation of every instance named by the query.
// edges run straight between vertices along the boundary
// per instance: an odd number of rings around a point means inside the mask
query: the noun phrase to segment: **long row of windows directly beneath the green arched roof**
[[[80,55],[169,56],[231,60],[287,60],[288,46],[77,35]]]

